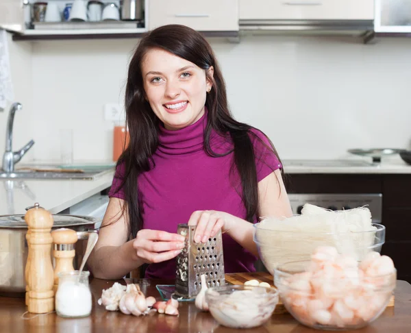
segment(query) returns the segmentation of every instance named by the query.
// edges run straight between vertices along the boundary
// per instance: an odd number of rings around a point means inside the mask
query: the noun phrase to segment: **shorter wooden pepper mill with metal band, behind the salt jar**
[[[74,245],[77,242],[77,232],[72,229],[62,227],[51,232],[53,237],[53,257],[54,267],[54,293],[58,288],[58,273],[74,271],[73,259],[75,257]]]

